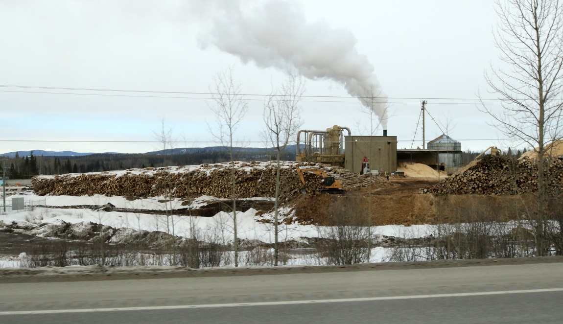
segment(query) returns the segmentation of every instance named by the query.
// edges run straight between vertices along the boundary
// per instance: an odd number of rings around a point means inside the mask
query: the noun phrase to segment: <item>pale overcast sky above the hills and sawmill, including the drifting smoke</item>
[[[412,146],[422,100],[462,149],[512,146],[476,100],[461,100],[496,97],[484,80],[498,64],[496,24],[490,0],[2,1],[0,151],[151,151],[157,143],[95,141],[154,141],[162,118],[178,147],[215,146],[208,95],[6,86],[206,93],[229,66],[242,92],[257,95],[286,68],[301,71],[305,95],[320,96],[303,98],[303,129],[366,134],[357,89],[344,85],[359,80],[389,98],[388,134],[400,148]],[[263,147],[263,97],[245,98],[235,137]],[[426,128],[427,141],[442,133],[428,115]],[[414,147],[421,141],[419,130]]]

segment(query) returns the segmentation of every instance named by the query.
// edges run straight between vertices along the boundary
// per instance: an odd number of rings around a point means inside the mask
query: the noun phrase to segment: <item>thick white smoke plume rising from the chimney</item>
[[[386,98],[356,38],[347,29],[307,23],[292,1],[272,0],[249,12],[231,7],[218,16],[209,42],[261,68],[296,69],[304,77],[330,79],[372,109],[387,129]],[[374,97],[377,97],[373,99]]]

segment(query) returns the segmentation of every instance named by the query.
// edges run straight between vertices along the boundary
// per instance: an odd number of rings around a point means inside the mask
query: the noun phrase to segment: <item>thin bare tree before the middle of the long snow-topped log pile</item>
[[[238,267],[238,232],[236,223],[236,179],[233,142],[234,135],[240,127],[244,115],[248,111],[248,104],[244,101],[240,83],[233,77],[233,67],[220,71],[213,78],[213,85],[209,89],[215,105],[209,109],[215,115],[215,124],[208,124],[209,131],[221,146],[228,147],[231,160],[231,198],[233,201],[233,249],[235,254],[235,267]]]

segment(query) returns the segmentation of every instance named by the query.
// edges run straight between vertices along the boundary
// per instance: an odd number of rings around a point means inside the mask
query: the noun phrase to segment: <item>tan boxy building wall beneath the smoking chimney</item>
[[[397,170],[396,136],[345,136],[345,168],[360,173],[366,156],[372,170],[392,173]]]

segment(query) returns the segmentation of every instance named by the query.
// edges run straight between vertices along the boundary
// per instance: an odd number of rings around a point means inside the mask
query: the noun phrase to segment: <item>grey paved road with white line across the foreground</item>
[[[17,283],[0,292],[2,323],[560,323],[563,263]]]

